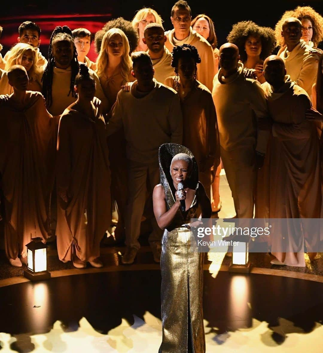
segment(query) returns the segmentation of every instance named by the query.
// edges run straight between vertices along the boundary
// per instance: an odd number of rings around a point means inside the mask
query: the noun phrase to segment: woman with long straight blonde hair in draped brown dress
[[[119,28],[108,30],[101,43],[97,59],[97,74],[102,89],[109,102],[109,109],[117,99],[121,86],[134,81],[131,75],[132,62],[129,56],[129,42],[124,32]],[[123,242],[125,207],[127,203],[127,167],[125,157],[125,139],[121,128],[108,138],[111,169],[111,191],[117,203],[118,224],[114,230],[117,243]]]

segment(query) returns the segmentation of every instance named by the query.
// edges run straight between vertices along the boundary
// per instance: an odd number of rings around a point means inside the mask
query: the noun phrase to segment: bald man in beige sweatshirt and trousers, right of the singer
[[[239,49],[225,43],[219,53],[220,70],[213,81],[221,158],[232,192],[236,216],[253,218],[256,160],[261,161],[269,133],[258,123],[268,116],[260,84],[245,78]]]

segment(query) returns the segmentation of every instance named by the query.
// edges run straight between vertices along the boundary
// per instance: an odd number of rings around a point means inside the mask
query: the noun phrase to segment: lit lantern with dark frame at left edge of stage
[[[42,243],[42,238],[31,238],[27,247],[27,270],[24,276],[30,281],[41,281],[51,278],[47,271],[47,245]]]

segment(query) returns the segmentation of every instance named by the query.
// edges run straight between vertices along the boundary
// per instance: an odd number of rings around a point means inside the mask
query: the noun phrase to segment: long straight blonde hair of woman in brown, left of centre
[[[130,52],[130,47],[129,47],[129,41],[127,36],[124,34],[124,32],[119,29],[119,28],[111,28],[109,29],[105,35],[102,38],[102,43],[101,43],[101,49],[100,49],[100,54],[98,56],[98,59],[96,59],[96,73],[98,74],[99,77],[104,76],[105,70],[107,66],[109,65],[109,56],[107,53],[107,47],[110,42],[111,37],[114,34],[119,34],[121,35],[122,38],[122,45],[123,45],[123,54],[121,56],[121,76],[127,82],[129,80],[129,74],[131,71],[132,67],[132,62],[129,56]]]

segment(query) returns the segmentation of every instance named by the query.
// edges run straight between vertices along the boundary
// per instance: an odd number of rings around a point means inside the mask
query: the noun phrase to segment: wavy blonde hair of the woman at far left
[[[36,49],[27,43],[18,43],[11,48],[10,55],[8,55],[8,58],[6,59],[5,71],[8,71],[13,65],[21,65],[19,60],[22,59],[27,50],[31,50],[31,52],[34,53],[34,62],[28,71],[28,77],[30,81],[36,81],[40,73],[40,68],[37,66],[37,53]]]

